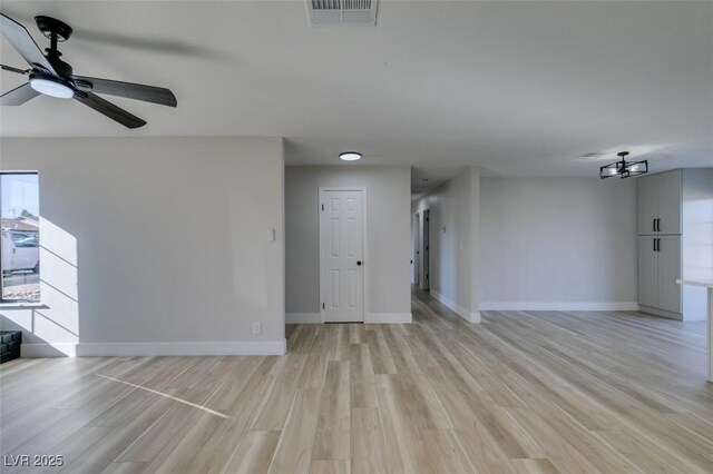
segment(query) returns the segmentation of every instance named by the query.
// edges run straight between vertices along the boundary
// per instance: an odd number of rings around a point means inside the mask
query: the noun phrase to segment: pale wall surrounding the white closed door
[[[367,188],[367,313],[411,314],[409,286],[411,171],[407,166],[285,168],[286,313],[319,315],[319,188]]]

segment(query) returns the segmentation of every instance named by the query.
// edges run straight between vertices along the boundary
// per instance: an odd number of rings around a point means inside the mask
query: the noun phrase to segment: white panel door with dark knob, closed
[[[321,190],[322,320],[364,320],[362,190]]]

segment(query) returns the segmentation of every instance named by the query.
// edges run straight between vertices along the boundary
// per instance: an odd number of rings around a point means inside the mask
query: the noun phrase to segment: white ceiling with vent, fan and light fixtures
[[[290,164],[596,176],[619,149],[713,166],[713,3],[384,1],[377,27],[312,28],[304,1],[3,1],[70,23],[75,72],[170,88],[178,108],[0,111],[2,136],[284,136]],[[23,67],[4,40],[3,63]],[[2,72],[2,90],[23,78]],[[584,159],[587,152],[607,152]],[[359,166],[359,165],[356,165]],[[419,179],[420,179],[419,175]]]

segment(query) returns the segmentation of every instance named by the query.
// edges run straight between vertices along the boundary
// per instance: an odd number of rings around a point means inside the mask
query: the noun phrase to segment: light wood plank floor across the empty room
[[[704,323],[468,325],[421,292],[413,314],[290,326],[284,357],[3,364],[1,453],[70,473],[713,472]]]

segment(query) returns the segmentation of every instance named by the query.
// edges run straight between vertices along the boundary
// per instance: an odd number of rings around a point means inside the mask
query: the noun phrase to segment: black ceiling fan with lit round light
[[[35,17],[35,21],[42,34],[50,40],[50,47],[45,49],[47,55],[42,55],[22,24],[0,13],[2,36],[31,67],[20,69],[0,65],[6,71],[29,75],[27,83],[0,96],[0,105],[21,106],[41,93],[61,99],[75,99],[128,128],[141,127],[146,121],[102,99],[97,93],[176,107],[176,97],[165,88],[74,75],[71,66],[60,59],[62,53],[57,49],[58,42],[69,39],[72,29],[67,23],[50,17]]]

